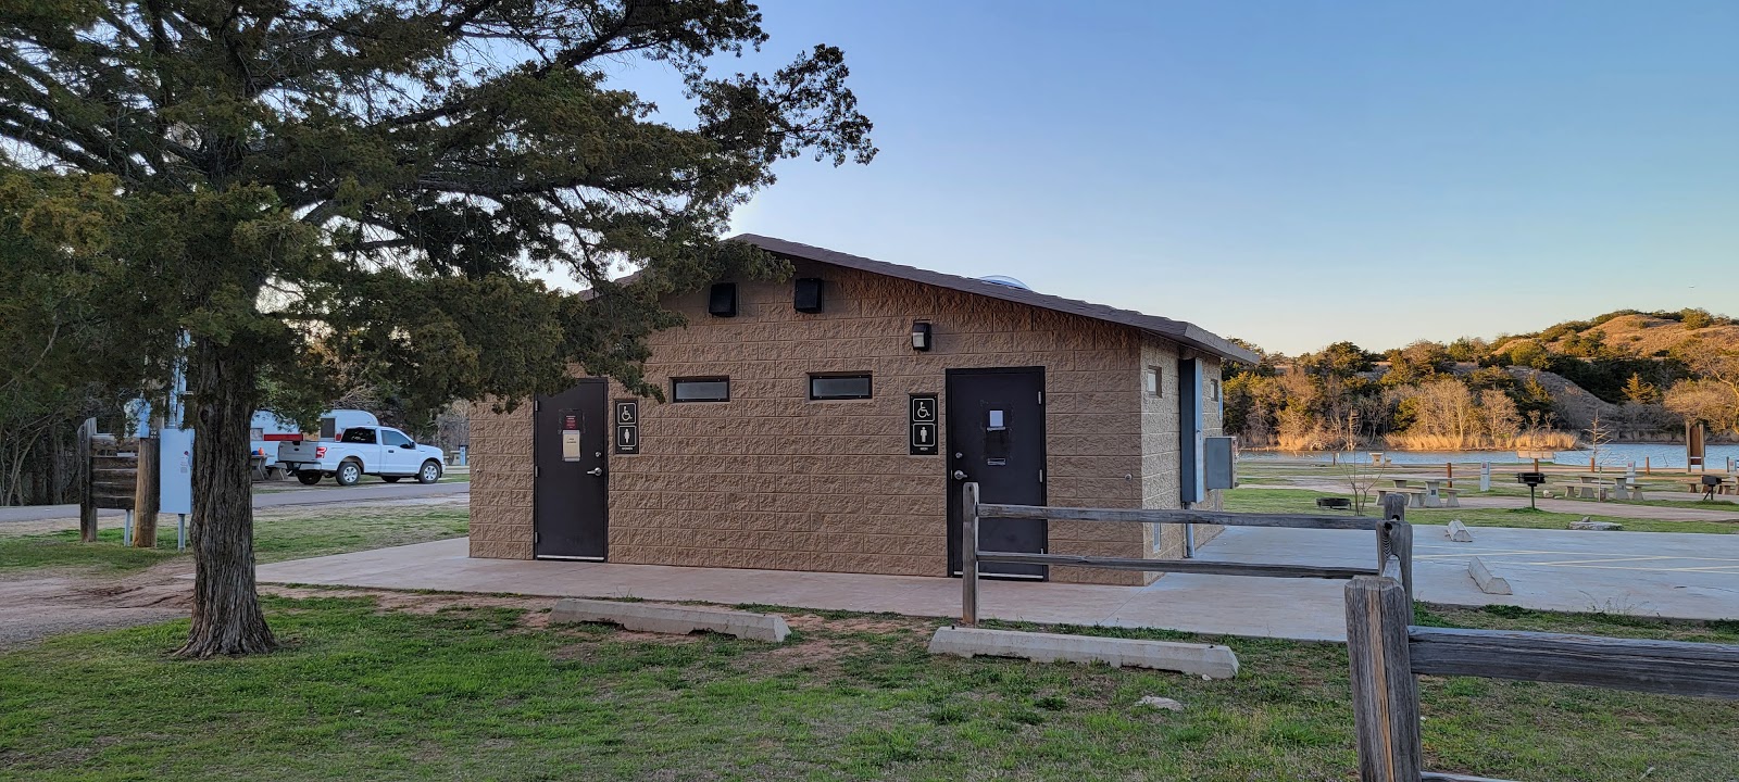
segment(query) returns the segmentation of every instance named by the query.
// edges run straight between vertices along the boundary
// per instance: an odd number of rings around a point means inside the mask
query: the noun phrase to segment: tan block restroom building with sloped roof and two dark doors
[[[946,577],[967,481],[986,502],[1219,506],[1203,445],[1221,434],[1221,367],[1250,351],[1005,278],[737,240],[795,275],[666,301],[689,325],[650,337],[664,401],[579,377],[513,414],[473,410],[471,556]],[[1195,544],[1216,532],[1196,527]],[[1176,525],[991,520],[983,535],[1000,551],[1184,554]]]

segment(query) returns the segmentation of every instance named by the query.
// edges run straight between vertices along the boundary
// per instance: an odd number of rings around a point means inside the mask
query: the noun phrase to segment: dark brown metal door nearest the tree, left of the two
[[[532,414],[532,553],[539,560],[603,560],[609,537],[609,384],[581,381],[539,396]]]

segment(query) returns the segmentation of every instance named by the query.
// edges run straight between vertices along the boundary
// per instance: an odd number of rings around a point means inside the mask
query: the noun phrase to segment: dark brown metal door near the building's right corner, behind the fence
[[[948,370],[948,572],[960,573],[960,488],[983,502],[1045,504],[1045,368]],[[979,520],[981,551],[1045,553],[1043,520]],[[1043,565],[981,563],[979,573],[1043,579]]]

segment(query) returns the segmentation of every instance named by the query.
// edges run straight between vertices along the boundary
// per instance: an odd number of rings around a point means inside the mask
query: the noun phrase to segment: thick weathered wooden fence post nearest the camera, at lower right
[[[1360,782],[1419,782],[1419,683],[1407,655],[1412,605],[1395,579],[1346,584],[1346,659],[1353,679]]]

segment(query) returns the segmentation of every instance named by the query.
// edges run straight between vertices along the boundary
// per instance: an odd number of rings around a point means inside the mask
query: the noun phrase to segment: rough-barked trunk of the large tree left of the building
[[[193,414],[193,629],[177,655],[212,657],[277,646],[254,587],[254,495],[249,426],[256,377],[243,349],[202,339],[190,360]]]

